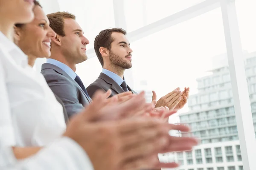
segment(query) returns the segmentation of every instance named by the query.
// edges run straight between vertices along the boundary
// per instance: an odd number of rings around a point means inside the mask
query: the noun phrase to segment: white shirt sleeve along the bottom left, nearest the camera
[[[11,147],[0,145],[0,170],[93,170],[93,165],[76,142],[63,137],[22,161],[15,159]]]

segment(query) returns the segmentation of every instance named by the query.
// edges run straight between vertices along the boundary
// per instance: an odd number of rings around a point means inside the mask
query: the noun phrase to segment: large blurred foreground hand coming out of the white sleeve
[[[70,120],[64,136],[84,148],[95,170],[154,168],[158,164],[155,155],[168,147],[169,130],[183,130],[184,126],[145,118],[93,122],[102,107],[108,109],[102,96],[97,94],[97,102]]]

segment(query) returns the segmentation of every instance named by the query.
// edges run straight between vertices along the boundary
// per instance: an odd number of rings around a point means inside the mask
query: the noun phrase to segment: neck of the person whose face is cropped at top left
[[[8,20],[4,20],[4,17],[0,19],[0,31],[10,40],[13,42],[13,35],[14,35],[14,23],[9,23]]]

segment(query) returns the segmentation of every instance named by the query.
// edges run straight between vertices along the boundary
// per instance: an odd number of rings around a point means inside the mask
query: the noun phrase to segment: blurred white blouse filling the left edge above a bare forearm
[[[44,146],[65,129],[63,108],[44,76],[0,32],[0,141],[7,146]]]

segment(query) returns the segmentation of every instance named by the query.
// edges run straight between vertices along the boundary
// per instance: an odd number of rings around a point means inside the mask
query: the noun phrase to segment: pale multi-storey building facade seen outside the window
[[[249,56],[245,69],[256,132],[256,54]],[[168,161],[180,162],[177,170],[243,170],[229,68],[211,72],[197,79],[198,93],[189,98],[189,112],[180,114],[180,123],[192,128],[182,136],[196,136],[201,144],[168,155]]]

